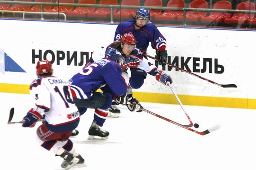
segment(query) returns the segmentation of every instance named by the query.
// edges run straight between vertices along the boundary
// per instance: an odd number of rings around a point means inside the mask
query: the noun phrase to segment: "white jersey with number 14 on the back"
[[[63,125],[79,118],[79,112],[73,102],[67,82],[55,76],[40,76],[30,86],[38,110],[44,110],[49,125]]]

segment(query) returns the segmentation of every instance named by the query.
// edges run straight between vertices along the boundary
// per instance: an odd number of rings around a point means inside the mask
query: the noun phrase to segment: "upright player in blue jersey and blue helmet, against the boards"
[[[120,40],[125,33],[132,33],[137,40],[137,47],[141,49],[143,55],[146,55],[149,43],[156,50],[157,58],[160,60],[162,67],[165,66],[167,59],[166,39],[159,32],[157,27],[150,22],[150,12],[148,9],[141,8],[137,11],[134,19],[121,22],[115,31],[114,41]],[[131,77],[129,80],[129,88],[139,89],[144,84],[147,73],[140,68],[131,68]],[[132,90],[129,90],[132,92]],[[111,105],[110,115],[116,117],[120,110],[115,105]]]

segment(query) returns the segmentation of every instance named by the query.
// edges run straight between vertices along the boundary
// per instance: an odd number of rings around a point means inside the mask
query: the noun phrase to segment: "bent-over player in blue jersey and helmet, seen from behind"
[[[104,54],[105,58],[100,57],[99,60],[86,64],[69,81],[80,115],[83,115],[87,108],[95,108],[93,123],[88,131],[88,140],[108,138],[109,132],[100,127],[106,120],[115,95],[122,96],[127,91],[127,85],[121,75],[121,67],[128,66],[128,62],[132,60],[126,60],[119,50],[112,47],[108,47]],[[96,92],[97,89],[101,89],[103,93]]]

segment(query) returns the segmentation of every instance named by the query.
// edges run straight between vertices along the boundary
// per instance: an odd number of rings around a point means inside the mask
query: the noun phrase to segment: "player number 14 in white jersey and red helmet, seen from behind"
[[[38,61],[36,75],[30,85],[35,107],[23,118],[23,127],[34,127],[40,119],[45,119],[37,128],[40,145],[64,160],[62,168],[83,165],[84,159],[75,151],[69,136],[79,124],[79,111],[73,102],[70,87],[66,81],[52,76],[52,64],[48,60]]]

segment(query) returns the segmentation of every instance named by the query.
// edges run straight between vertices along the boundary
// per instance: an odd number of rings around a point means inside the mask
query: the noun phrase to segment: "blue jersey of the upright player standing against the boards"
[[[166,39],[152,22],[137,31],[134,30],[134,20],[121,22],[115,30],[114,41],[120,40],[124,33],[132,33],[134,35],[137,40],[137,47],[141,48],[142,52],[147,50],[150,42],[153,49],[158,50],[164,46],[164,49],[161,50],[165,50]]]

